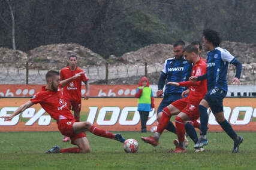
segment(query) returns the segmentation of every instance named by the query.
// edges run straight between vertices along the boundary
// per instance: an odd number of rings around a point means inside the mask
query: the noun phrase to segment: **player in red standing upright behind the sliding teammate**
[[[71,78],[77,73],[83,72],[83,69],[77,67],[77,55],[71,54],[68,58],[68,66],[61,69],[61,81]],[[85,100],[88,100],[90,94],[90,85],[88,82],[88,78],[85,74],[82,74],[79,78],[71,81],[67,86],[63,89],[63,95],[65,100],[67,101],[68,109],[74,111],[74,117],[77,122],[80,122],[80,112],[81,112],[81,86],[82,82],[85,83],[86,86],[86,94]],[[64,137],[62,141],[69,141],[68,137]]]

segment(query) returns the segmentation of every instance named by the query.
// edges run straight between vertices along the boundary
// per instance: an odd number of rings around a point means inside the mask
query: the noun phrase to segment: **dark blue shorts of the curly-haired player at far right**
[[[218,87],[215,87],[206,93],[204,100],[208,102],[213,114],[223,112],[223,98],[225,98],[226,95],[227,91],[219,89]]]

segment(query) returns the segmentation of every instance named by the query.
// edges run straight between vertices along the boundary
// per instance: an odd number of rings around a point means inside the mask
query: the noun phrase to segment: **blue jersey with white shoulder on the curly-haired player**
[[[218,87],[224,91],[228,90],[227,70],[228,63],[236,60],[233,55],[225,49],[216,47],[207,52],[207,89],[210,91]]]

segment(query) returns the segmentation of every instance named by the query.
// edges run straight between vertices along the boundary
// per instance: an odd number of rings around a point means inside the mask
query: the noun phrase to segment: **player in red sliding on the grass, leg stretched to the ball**
[[[90,131],[92,134],[100,137],[106,137],[124,143],[125,138],[123,138],[121,134],[112,134],[104,129],[97,128],[90,122],[77,122],[70,112],[70,109],[68,109],[67,101],[65,101],[64,95],[60,89],[74,79],[79,78],[84,73],[85,72],[80,72],[71,78],[61,81],[59,72],[50,70],[46,74],[46,86],[43,86],[40,92],[35,94],[31,100],[22,104],[13,114],[1,116],[1,118],[11,120],[28,107],[40,103],[41,107],[57,121],[58,129],[61,131],[62,135],[70,137],[71,144],[77,146],[67,149],[60,149],[58,146],[55,146],[46,153],[89,153],[90,146],[85,131]]]

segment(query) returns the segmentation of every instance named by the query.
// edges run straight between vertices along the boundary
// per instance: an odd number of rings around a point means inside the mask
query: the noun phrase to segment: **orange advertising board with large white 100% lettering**
[[[0,115],[14,112],[29,98],[0,98]],[[155,98],[158,106],[162,98]],[[224,115],[235,131],[256,131],[256,98],[225,98]],[[109,131],[140,131],[136,98],[89,98],[82,100],[81,119]],[[149,114],[147,129],[156,126],[156,111]],[[36,104],[11,121],[0,119],[0,131],[58,131],[56,121]],[[209,113],[209,131],[222,131]]]

